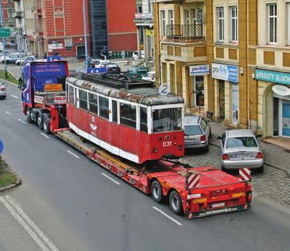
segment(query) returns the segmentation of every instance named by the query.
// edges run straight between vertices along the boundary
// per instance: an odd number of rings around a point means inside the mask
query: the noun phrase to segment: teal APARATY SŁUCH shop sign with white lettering
[[[255,77],[256,80],[274,82],[279,84],[290,84],[290,73],[256,69]]]

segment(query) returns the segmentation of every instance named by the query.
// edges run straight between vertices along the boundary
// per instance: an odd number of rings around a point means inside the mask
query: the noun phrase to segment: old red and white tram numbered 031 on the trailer
[[[68,77],[69,127],[134,163],[183,156],[182,97],[161,96],[146,84],[125,76],[114,81],[110,75]]]

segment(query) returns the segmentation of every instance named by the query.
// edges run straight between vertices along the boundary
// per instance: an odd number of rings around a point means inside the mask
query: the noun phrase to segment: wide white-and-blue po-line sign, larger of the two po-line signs
[[[213,65],[212,67],[213,78],[234,83],[239,82],[238,67],[227,64],[212,64],[212,65]]]

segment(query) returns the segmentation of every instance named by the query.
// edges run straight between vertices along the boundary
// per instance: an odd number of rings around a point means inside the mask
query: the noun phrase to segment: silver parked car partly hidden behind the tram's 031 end
[[[184,148],[202,149],[208,152],[208,140],[210,138],[210,122],[202,116],[184,116]]]

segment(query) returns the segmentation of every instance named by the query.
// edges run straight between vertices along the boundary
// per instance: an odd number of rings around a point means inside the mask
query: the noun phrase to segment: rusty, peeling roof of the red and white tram
[[[169,93],[167,96],[159,94],[158,88],[141,87],[141,88],[114,88],[105,86],[103,84],[97,84],[88,80],[82,80],[80,76],[68,77],[67,82],[86,89],[93,91],[108,97],[114,97],[117,99],[124,99],[132,101],[145,106],[158,106],[165,104],[183,104],[184,100],[182,97]]]

